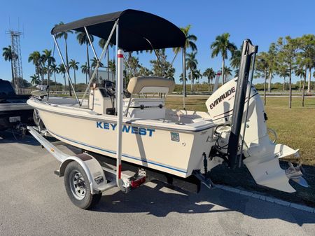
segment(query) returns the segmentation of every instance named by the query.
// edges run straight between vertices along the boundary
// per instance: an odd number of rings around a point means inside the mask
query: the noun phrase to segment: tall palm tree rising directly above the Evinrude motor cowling
[[[234,53],[235,50],[237,50],[237,47],[234,43],[231,43],[229,41],[230,34],[224,33],[221,35],[216,36],[216,41],[211,43],[210,48],[212,49],[211,57],[217,57],[218,54],[221,54],[222,57],[222,79],[223,84],[225,83],[225,59],[228,59],[228,52]]]

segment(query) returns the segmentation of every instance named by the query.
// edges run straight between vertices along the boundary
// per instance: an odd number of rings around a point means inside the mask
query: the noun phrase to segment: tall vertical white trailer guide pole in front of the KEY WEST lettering
[[[121,155],[123,144],[123,68],[124,68],[124,51],[117,51],[117,151],[116,151],[116,183],[120,190],[125,191],[123,180],[121,179]]]

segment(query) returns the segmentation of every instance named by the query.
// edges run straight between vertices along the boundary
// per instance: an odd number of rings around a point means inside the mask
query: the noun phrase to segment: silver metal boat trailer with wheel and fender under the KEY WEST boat
[[[90,209],[97,204],[105,190],[118,187],[123,193],[129,193],[130,190],[152,180],[162,181],[169,186],[192,193],[200,191],[201,183],[207,188],[214,187],[209,177],[200,172],[194,172],[192,176],[184,179],[127,162],[123,163],[123,168],[122,165],[116,168],[116,160],[97,153],[83,151],[76,155],[69,155],[56,147],[64,144],[62,141],[52,142],[46,139],[50,137],[46,130],[34,126],[27,126],[27,130],[42,148],[61,162],[55,174],[64,177],[64,186],[71,202],[82,209]],[[125,170],[132,172],[133,175],[124,174]],[[118,186],[117,177],[120,179],[121,187]]]

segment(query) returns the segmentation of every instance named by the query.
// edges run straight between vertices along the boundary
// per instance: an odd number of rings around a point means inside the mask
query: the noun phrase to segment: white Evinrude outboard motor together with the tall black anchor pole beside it
[[[299,153],[269,139],[262,100],[257,90],[248,83],[248,78],[252,76],[249,73],[251,57],[255,53],[257,47],[248,39],[244,41],[239,78],[225,83],[206,102],[209,115],[218,125],[214,132],[218,141],[211,149],[211,157],[223,158],[231,169],[244,163],[256,183],[293,193],[295,189],[290,186],[289,179],[304,187],[308,184],[302,178],[300,165],[294,167],[289,163],[286,170],[279,165],[279,158],[287,155],[298,157]]]

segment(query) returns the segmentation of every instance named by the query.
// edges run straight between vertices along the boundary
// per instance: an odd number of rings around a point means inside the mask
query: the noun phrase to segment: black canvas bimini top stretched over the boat
[[[51,34],[69,30],[85,32],[86,27],[89,34],[107,40],[118,19],[118,44],[119,48],[126,52],[151,50],[152,46],[154,49],[160,49],[179,48],[185,45],[185,34],[173,23],[158,15],[130,9],[57,25],[52,28]],[[111,43],[116,44],[116,34],[111,37]]]

